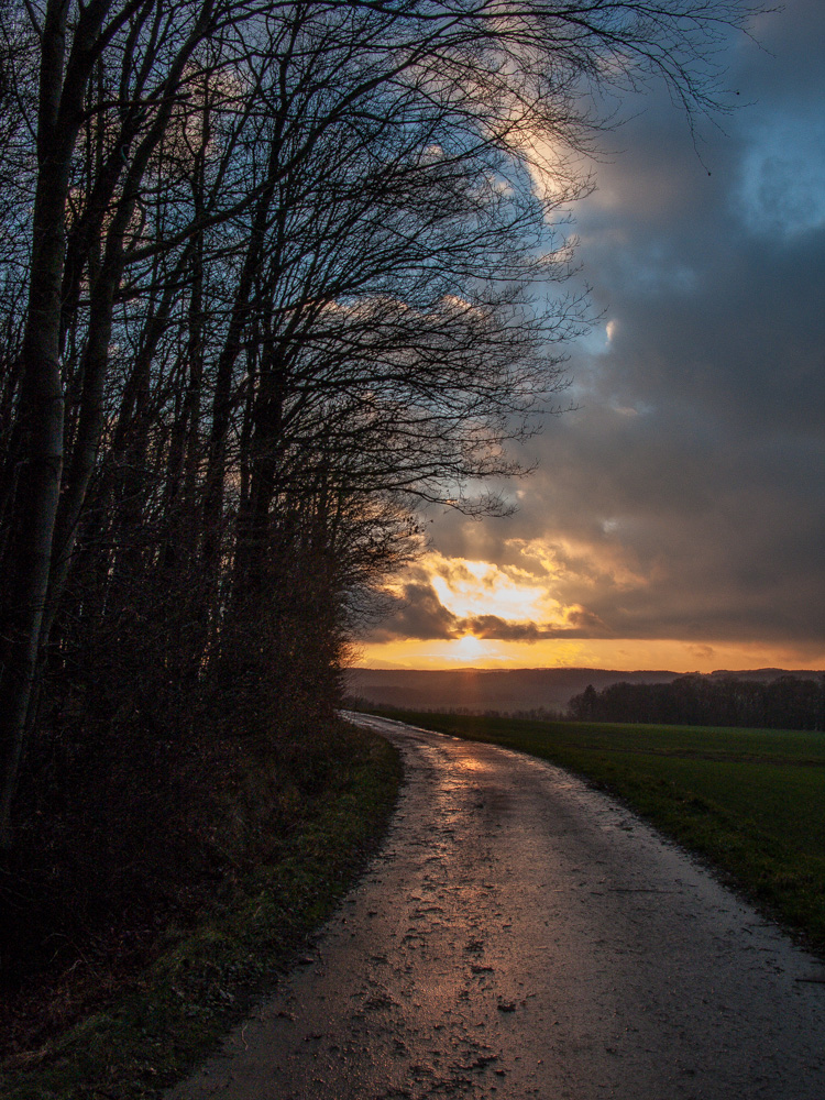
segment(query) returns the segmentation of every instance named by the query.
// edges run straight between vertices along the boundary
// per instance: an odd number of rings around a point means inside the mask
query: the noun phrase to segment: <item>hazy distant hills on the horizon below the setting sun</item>
[[[587,684],[596,691],[609,684],[670,683],[682,673],[668,671],[618,672],[610,669],[348,669],[345,681],[351,695],[373,706],[411,711],[471,712],[565,711],[573,695]],[[781,675],[815,679],[821,672],[785,669],[754,669],[746,672],[707,673],[741,680],[774,680]]]

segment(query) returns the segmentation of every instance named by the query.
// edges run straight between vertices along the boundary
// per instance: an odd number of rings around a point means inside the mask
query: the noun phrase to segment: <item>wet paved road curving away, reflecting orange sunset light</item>
[[[822,1100],[825,967],[551,765],[402,750],[382,854],[174,1100]]]

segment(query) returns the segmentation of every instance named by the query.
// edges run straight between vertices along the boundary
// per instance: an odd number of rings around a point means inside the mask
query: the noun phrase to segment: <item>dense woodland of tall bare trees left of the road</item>
[[[4,912],[117,923],[312,736],[418,506],[504,507],[575,155],[628,85],[719,109],[745,9],[0,0]]]

